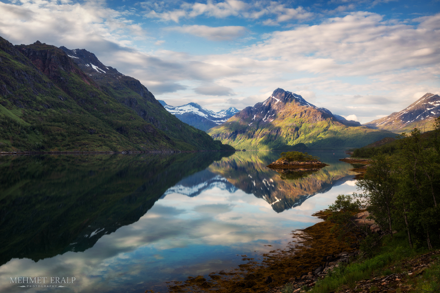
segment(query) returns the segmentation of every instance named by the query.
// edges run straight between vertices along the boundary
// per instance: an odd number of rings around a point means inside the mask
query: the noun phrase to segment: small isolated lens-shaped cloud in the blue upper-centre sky
[[[211,27],[206,25],[183,25],[169,27],[167,30],[191,34],[211,41],[233,40],[242,37],[246,33],[246,28],[243,26]]]

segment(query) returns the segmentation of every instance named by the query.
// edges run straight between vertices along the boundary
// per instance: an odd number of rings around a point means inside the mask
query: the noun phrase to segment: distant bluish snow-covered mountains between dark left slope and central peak
[[[214,112],[203,108],[197,103],[189,103],[182,106],[170,106],[164,101],[159,100],[168,112],[175,115],[180,121],[183,121],[200,130],[207,131],[208,129],[218,126],[231,118],[234,114],[239,112],[237,108],[230,107],[227,110]]]

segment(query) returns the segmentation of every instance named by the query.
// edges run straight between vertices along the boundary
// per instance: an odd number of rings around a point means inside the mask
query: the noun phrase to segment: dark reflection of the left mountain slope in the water
[[[227,152],[0,157],[0,265],[85,251]]]

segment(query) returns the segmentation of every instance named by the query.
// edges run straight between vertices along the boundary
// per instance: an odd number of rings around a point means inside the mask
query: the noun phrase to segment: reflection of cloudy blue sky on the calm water
[[[242,190],[212,188],[196,197],[170,193],[139,221],[104,235],[84,252],[37,263],[11,260],[0,268],[0,292],[38,291],[4,286],[15,276],[76,277],[76,284],[63,288],[66,292],[163,292],[163,281],[227,270],[242,263],[237,254],[258,257],[285,247],[292,230],[320,221],[310,216],[313,212],[327,208],[338,194],[355,190],[354,181],[348,181],[282,213]]]

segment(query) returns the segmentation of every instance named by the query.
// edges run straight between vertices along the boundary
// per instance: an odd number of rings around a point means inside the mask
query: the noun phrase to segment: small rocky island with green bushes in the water
[[[282,152],[280,158],[270,165],[269,168],[322,168],[329,166],[319,161],[318,157],[309,155],[307,152],[287,151]]]

